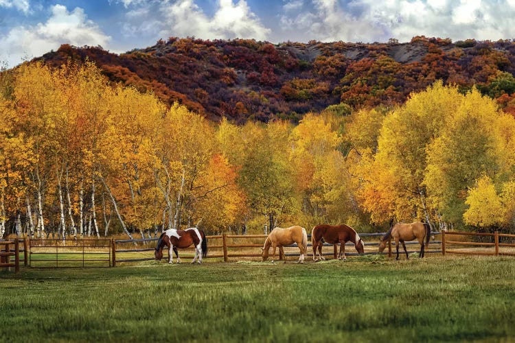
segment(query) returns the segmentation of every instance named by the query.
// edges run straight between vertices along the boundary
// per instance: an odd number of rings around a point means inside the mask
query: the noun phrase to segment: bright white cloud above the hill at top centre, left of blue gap
[[[161,37],[196,36],[214,38],[255,38],[265,40],[271,30],[264,27],[244,0],[218,0],[214,16],[209,18],[194,0],[167,1],[161,5],[165,27]]]

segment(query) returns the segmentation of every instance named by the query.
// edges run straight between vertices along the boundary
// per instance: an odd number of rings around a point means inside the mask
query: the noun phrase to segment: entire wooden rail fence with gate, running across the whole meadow
[[[365,255],[393,256],[392,247],[395,243],[388,241],[387,251],[378,252],[374,247],[378,246],[378,240],[373,237],[381,237],[385,233],[360,233],[361,237],[369,237],[365,242]],[[515,256],[515,235],[504,233],[468,233],[468,232],[432,232],[433,240],[429,241],[426,253],[456,254],[456,255],[490,255],[490,256]],[[440,241],[434,240],[436,235],[441,235]],[[449,237],[452,235],[452,237]],[[488,241],[459,241],[456,236],[480,237]],[[233,258],[261,257],[264,239],[268,235],[208,235],[208,259],[220,259],[228,262]],[[490,238],[490,239],[489,239]],[[310,235],[308,235],[310,239]],[[155,241],[158,238],[148,239],[11,239],[0,241],[0,268],[15,268],[19,271],[19,263],[36,268],[73,268],[73,267],[115,267],[117,263],[148,261],[154,259],[152,252],[155,250]],[[505,240],[504,242],[502,240]],[[506,241],[509,240],[509,241]],[[408,251],[418,252],[417,241],[406,241],[407,246],[415,245],[415,249]],[[327,247],[332,246],[332,249]],[[345,246],[354,247],[348,242]],[[3,248],[2,248],[3,247]],[[285,257],[298,257],[299,250],[294,249],[297,244],[285,246]],[[336,258],[338,246],[324,243],[324,256]],[[184,251],[185,250],[185,251]],[[23,259],[20,253],[23,252]],[[345,256],[356,256],[357,252],[350,250]],[[14,261],[12,261],[14,257]],[[181,249],[181,258],[192,259],[194,248]],[[306,257],[312,257],[312,244],[308,241]]]

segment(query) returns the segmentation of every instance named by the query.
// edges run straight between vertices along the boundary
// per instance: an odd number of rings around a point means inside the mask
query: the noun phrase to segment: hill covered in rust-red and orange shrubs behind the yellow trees
[[[111,54],[101,47],[62,45],[48,64],[94,61],[114,82],[152,90],[218,120],[297,121],[334,104],[345,111],[391,106],[433,84],[477,85],[515,113],[515,43],[414,37],[410,43],[282,43],[170,38],[146,49]]]

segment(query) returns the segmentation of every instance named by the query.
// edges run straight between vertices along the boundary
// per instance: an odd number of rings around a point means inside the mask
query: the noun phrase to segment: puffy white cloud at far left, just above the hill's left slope
[[[65,6],[54,5],[52,16],[46,23],[14,27],[0,38],[0,46],[7,47],[1,50],[0,60],[5,60],[10,67],[14,67],[23,59],[41,56],[57,49],[61,44],[106,47],[110,39],[98,25],[87,19],[82,8],[68,12]]]

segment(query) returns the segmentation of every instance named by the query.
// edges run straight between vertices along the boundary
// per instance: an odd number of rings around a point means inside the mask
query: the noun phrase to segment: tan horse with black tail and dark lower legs
[[[424,247],[429,244],[429,237],[431,237],[431,226],[427,223],[421,222],[414,222],[411,224],[397,223],[391,226],[386,235],[381,237],[379,242],[379,252],[385,250],[387,241],[390,237],[393,237],[396,241],[396,259],[399,259],[399,242],[402,243],[402,248],[404,248],[404,252],[406,252],[406,259],[409,259],[404,241],[413,241],[413,239],[417,239],[420,244],[418,257],[424,257]],[[425,244],[424,238],[426,239]]]

